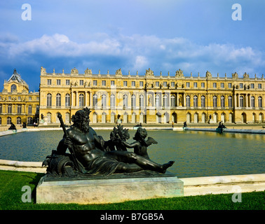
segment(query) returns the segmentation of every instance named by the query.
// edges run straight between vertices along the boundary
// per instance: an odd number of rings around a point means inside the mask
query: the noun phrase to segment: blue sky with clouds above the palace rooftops
[[[22,20],[23,3],[32,20]],[[232,20],[234,3],[242,20]],[[182,69],[186,76],[261,77],[264,11],[264,0],[1,1],[0,82],[17,69],[37,91],[41,66],[64,73],[121,68],[134,75],[151,68],[165,76]]]

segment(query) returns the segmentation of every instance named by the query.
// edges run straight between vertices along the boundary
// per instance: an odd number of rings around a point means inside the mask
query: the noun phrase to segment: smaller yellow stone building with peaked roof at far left
[[[0,92],[0,125],[32,125],[35,120],[39,121],[39,92],[29,92],[25,80],[14,70]]]

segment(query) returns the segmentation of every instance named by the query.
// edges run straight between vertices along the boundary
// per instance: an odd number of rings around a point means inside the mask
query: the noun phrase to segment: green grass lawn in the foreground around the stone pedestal
[[[265,191],[243,193],[234,203],[232,194],[160,198],[114,204],[36,204],[36,186],[43,174],[0,171],[1,210],[264,210]],[[22,202],[23,186],[32,189],[32,202]]]

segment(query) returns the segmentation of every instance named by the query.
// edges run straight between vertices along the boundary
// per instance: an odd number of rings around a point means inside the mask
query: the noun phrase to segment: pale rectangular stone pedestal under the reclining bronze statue
[[[45,176],[36,188],[36,203],[106,204],[129,200],[184,195],[183,182],[174,174],[107,178],[62,179],[49,181]]]

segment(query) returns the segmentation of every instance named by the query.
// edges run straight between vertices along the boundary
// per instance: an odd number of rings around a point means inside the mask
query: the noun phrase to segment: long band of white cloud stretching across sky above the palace
[[[12,38],[16,40],[15,36]],[[156,75],[160,71],[170,71],[172,74],[177,69],[184,70],[186,74],[209,70],[221,75],[225,72],[232,73],[236,69],[258,73],[265,66],[264,52],[250,46],[237,47],[229,43],[199,45],[186,38],[158,38],[136,34],[113,38],[107,34],[94,34],[84,43],[77,43],[64,34],[54,34],[43,35],[25,43],[5,41],[6,39],[8,38],[0,38],[2,59],[28,57],[31,60],[34,55],[43,55],[46,58],[64,57],[64,63],[67,59],[83,58],[83,62],[79,64],[84,64],[88,62],[88,57],[97,57],[102,60],[101,66],[111,65],[117,69],[121,67],[143,73],[150,67]]]

